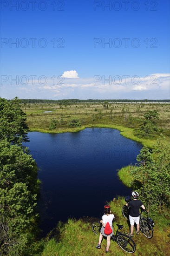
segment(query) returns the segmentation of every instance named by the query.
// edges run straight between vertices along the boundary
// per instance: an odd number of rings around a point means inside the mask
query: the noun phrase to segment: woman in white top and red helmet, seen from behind
[[[100,221],[102,223],[102,228],[100,230],[98,245],[96,246],[97,249],[101,248],[102,239],[103,239],[103,236],[105,236],[105,237],[107,237],[107,247],[105,248],[105,251],[106,252],[109,251],[109,247],[111,244],[111,236],[113,236],[112,221],[113,221],[114,217],[115,217],[114,214],[111,214],[110,205],[108,205],[108,208],[105,210],[105,214],[102,216],[102,220]],[[110,227],[112,229],[112,233],[110,235],[105,234],[105,225],[107,222],[109,222]]]

